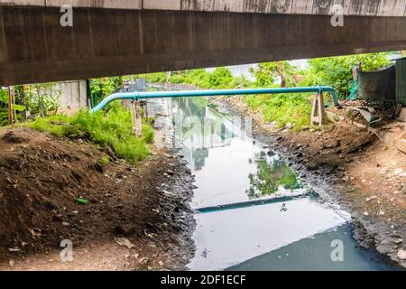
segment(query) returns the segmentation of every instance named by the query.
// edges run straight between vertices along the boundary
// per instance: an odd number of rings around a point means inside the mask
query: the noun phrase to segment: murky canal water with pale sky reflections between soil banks
[[[157,100],[196,177],[190,270],[399,270],[359,247],[351,216],[317,195],[250,124],[206,98]],[[168,121],[168,120],[167,120]],[[169,136],[171,137],[171,136]]]

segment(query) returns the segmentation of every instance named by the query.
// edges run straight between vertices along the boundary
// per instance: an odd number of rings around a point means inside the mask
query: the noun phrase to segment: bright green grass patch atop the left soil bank
[[[102,148],[110,147],[116,156],[131,163],[143,160],[150,154],[146,144],[153,141],[153,130],[149,124],[143,124],[142,138],[133,134],[131,112],[118,103],[113,103],[106,111],[94,114],[80,111],[74,117],[57,115],[37,118],[28,126],[59,137],[72,140],[80,138]]]

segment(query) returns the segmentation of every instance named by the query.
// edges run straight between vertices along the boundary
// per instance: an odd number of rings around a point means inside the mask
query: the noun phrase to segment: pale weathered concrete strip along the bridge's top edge
[[[0,0],[0,5],[100,7],[262,14],[333,14],[342,5],[346,15],[403,16],[406,0]]]

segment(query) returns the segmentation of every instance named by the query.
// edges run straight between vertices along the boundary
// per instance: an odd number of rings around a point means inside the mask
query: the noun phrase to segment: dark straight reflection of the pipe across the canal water
[[[278,202],[285,202],[285,201],[289,201],[289,200],[297,200],[297,199],[305,198],[308,196],[309,196],[309,193],[306,192],[304,194],[296,195],[296,196],[283,196],[283,197],[270,198],[270,199],[265,199],[265,200],[248,200],[248,201],[235,202],[235,203],[226,204],[226,205],[198,208],[198,209],[195,209],[195,212],[196,213],[212,213],[212,212],[222,211],[222,210],[243,209],[243,208],[248,208],[248,207],[253,207],[253,206],[261,206],[261,205],[268,205],[268,204],[273,204],[273,203],[278,203]]]

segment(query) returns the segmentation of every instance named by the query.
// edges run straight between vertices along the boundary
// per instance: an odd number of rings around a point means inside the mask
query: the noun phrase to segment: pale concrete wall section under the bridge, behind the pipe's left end
[[[60,111],[73,115],[88,107],[86,80],[63,81],[55,85],[60,91]]]

